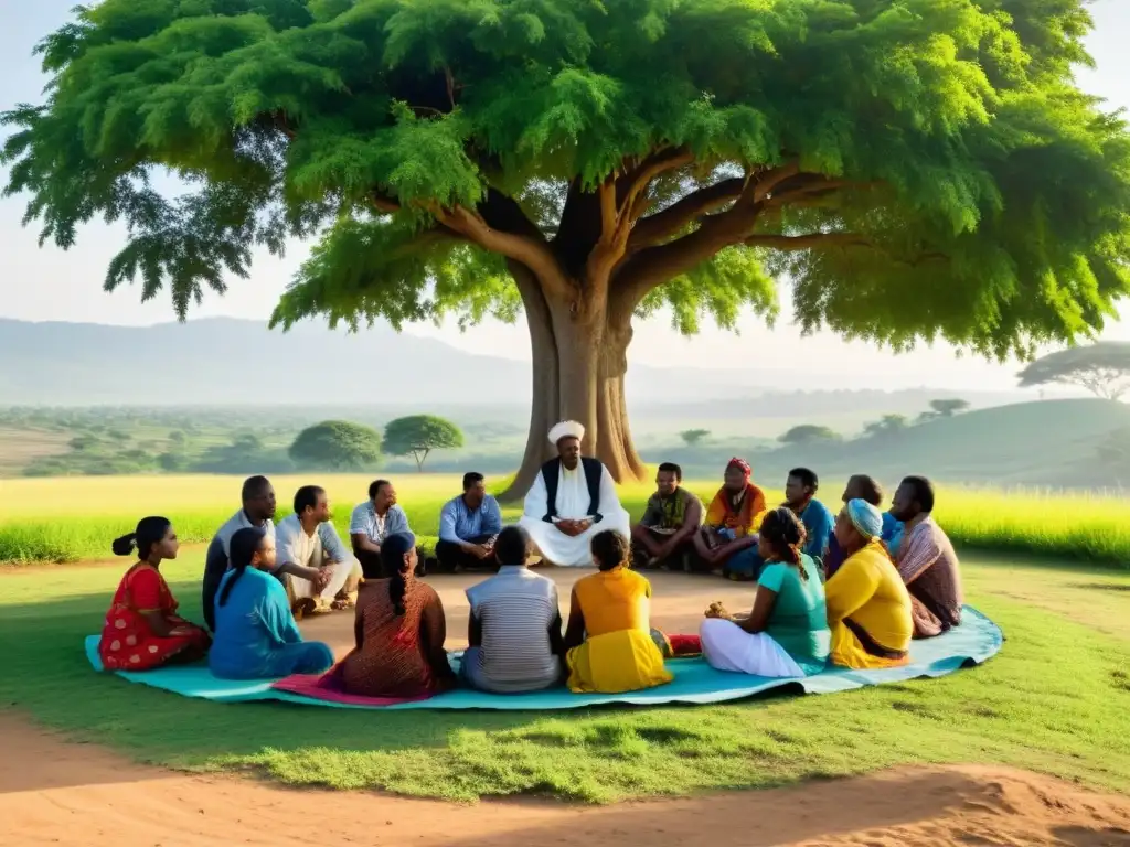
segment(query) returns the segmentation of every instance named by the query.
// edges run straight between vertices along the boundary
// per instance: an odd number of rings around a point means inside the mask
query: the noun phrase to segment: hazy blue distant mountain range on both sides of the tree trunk
[[[819,385],[818,377],[805,384]],[[775,437],[815,416],[851,431],[866,419],[916,414],[931,399],[954,394],[886,393],[881,384],[870,392],[781,393],[763,378],[756,366],[633,365],[633,427],[637,435],[677,433],[705,421],[725,430],[720,435]],[[1018,392],[962,395],[974,407],[1024,399]],[[330,407],[477,407],[524,424],[529,399],[529,363],[470,355],[386,325],[353,335],[311,322],[282,333],[234,318],[146,328],[0,320],[0,405],[292,405],[315,414]]]

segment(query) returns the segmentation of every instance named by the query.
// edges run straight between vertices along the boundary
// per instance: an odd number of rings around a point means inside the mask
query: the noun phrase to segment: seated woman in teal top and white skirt
[[[806,676],[828,661],[832,636],[816,561],[800,552],[805,526],[788,506],[762,522],[757,549],[765,560],[748,617],[728,617],[720,604],[702,622],[703,656],[719,671],[756,676]]]

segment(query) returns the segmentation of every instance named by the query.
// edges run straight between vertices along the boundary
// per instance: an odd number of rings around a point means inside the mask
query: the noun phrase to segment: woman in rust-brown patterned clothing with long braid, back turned
[[[381,543],[381,567],[391,576],[362,586],[354,619],[357,646],[338,665],[348,693],[418,698],[455,684],[443,649],[443,603],[416,578],[417,561],[411,533],[389,535]]]

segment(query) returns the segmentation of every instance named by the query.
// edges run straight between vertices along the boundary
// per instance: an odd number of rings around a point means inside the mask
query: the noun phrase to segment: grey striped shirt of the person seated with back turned
[[[480,676],[490,690],[529,691],[551,684],[559,674],[549,628],[560,626],[557,586],[521,565],[505,565],[497,576],[467,590],[483,628]]]

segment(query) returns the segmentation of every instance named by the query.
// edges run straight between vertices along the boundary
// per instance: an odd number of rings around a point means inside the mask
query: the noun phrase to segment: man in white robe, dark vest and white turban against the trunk
[[[541,465],[519,522],[546,562],[567,568],[592,565],[589,544],[598,532],[632,538],[616,483],[599,460],[581,455],[582,438],[584,427],[572,420],[549,430],[557,459]]]

